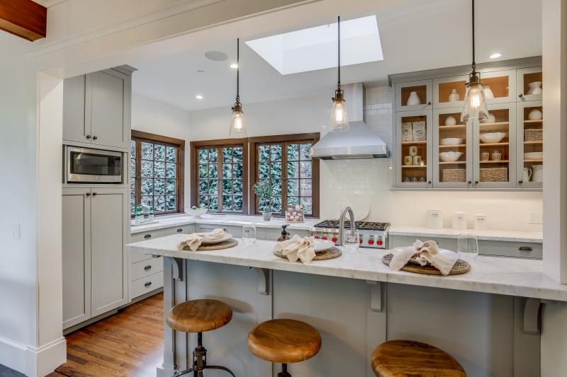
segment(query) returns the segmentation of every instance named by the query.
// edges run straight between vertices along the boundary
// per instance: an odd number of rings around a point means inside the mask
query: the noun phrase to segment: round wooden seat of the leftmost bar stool
[[[230,322],[232,309],[218,300],[179,303],[167,313],[167,325],[182,332],[206,332]]]

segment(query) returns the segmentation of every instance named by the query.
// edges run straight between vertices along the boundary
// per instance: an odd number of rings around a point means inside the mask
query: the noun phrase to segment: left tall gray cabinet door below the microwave
[[[90,194],[90,188],[63,189],[63,328],[91,318]]]

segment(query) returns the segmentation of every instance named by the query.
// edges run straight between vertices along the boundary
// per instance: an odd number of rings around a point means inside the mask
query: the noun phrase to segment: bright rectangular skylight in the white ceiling
[[[337,23],[246,42],[280,74],[337,66]],[[341,65],[383,60],[376,15],[341,21]]]

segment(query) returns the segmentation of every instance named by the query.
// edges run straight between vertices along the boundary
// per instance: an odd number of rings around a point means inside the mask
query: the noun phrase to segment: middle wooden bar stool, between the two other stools
[[[268,320],[249,332],[248,348],[260,359],[281,363],[278,377],[291,377],[288,364],[315,356],[321,349],[321,335],[298,320]]]

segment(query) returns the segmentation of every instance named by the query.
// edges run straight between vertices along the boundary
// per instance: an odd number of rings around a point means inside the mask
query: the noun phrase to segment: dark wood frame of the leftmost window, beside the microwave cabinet
[[[133,129],[130,134],[130,139],[136,142],[136,172],[135,172],[135,187],[136,187],[136,203],[138,206],[142,204],[142,141],[147,141],[153,144],[163,144],[165,146],[174,146],[176,148],[176,209],[154,212],[155,216],[165,216],[170,214],[182,214],[185,211],[184,197],[184,174],[185,174],[185,140],[175,139],[174,137],[165,137],[158,134],[151,134],[150,132],[142,132]],[[130,156],[131,158],[131,156]],[[130,163],[130,161],[128,161]],[[129,177],[130,178],[130,177]],[[165,196],[165,195],[164,195]],[[155,205],[155,204],[154,204]],[[132,216],[132,215],[131,215]]]

